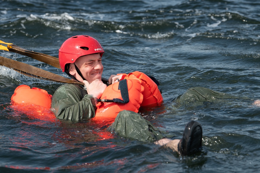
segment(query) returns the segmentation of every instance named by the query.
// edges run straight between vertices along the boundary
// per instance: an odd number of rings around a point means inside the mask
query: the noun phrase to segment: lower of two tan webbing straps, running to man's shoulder
[[[60,82],[60,83],[67,83],[67,84],[79,84],[79,85],[84,85],[81,82],[75,82],[71,79],[68,78],[64,78],[60,75],[42,70],[40,68],[31,66],[29,64],[25,64],[25,63],[21,63],[9,58],[5,58],[0,56],[0,65],[4,65],[6,67],[12,68],[13,70],[30,76],[30,77],[34,77],[34,78],[40,78],[40,79],[44,79],[44,80],[51,80],[51,81],[55,81],[55,82]]]

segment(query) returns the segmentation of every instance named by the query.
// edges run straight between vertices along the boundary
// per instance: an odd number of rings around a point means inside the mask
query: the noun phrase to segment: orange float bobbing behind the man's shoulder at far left
[[[28,85],[18,86],[11,97],[12,108],[40,120],[55,120],[50,111],[52,96],[44,89],[30,88]]]

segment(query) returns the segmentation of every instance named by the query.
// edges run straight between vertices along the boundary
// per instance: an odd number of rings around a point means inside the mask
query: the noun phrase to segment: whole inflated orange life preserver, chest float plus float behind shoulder
[[[96,105],[97,110],[94,119],[112,120],[115,119],[121,110],[138,112],[140,106],[148,106],[162,102],[162,95],[158,86],[146,74],[136,71],[122,75],[121,80],[126,80],[129,102],[99,102]],[[120,82],[116,82],[109,85],[100,99],[112,100],[117,98],[122,100],[119,83]],[[15,106],[16,110],[33,112],[31,115],[41,119],[44,109],[50,109],[51,107],[51,97],[52,96],[44,89],[20,85],[15,89],[11,100],[15,103],[13,106]]]

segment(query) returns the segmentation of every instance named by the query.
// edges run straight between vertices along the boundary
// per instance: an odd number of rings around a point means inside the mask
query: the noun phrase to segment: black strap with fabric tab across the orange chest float
[[[113,99],[113,100],[107,100],[107,99],[97,99],[97,102],[116,102],[116,103],[128,103],[129,102],[129,94],[128,94],[128,87],[127,87],[127,81],[126,79],[120,80],[118,89],[120,90],[122,99]]]

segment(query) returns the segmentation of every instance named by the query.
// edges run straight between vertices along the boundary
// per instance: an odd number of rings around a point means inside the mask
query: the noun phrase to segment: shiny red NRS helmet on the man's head
[[[102,57],[104,50],[93,37],[80,35],[67,39],[59,49],[59,61],[62,72],[66,70],[66,64],[74,63],[81,56],[95,53],[100,53],[100,57]]]

